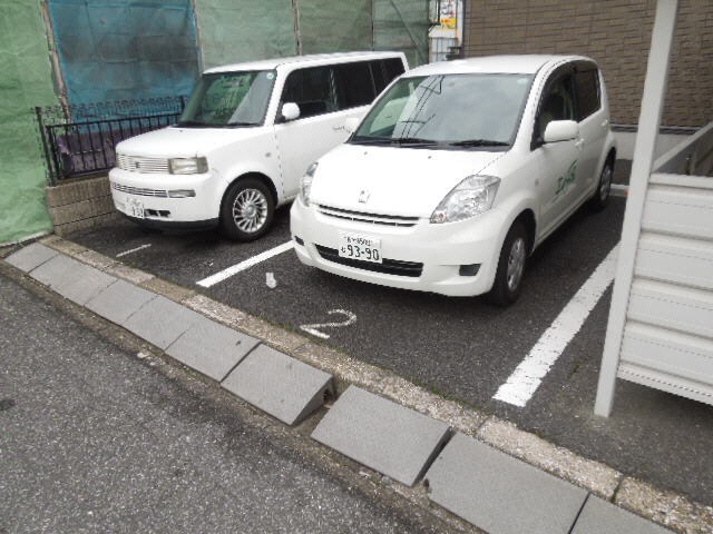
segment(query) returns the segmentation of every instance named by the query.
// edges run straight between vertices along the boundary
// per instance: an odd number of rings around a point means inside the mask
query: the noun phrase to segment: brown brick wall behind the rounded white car
[[[578,53],[606,80],[612,121],[638,122],[654,0],[468,0],[466,57]],[[713,1],[681,0],[671,58],[665,126],[713,121]]]

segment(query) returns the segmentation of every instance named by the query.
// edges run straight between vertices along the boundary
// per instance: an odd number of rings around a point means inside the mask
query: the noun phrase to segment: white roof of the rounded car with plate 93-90
[[[567,61],[592,61],[583,56],[521,55],[485,56],[480,58],[439,61],[417,67],[404,76],[461,75],[461,73],[512,73],[534,75],[547,65]]]

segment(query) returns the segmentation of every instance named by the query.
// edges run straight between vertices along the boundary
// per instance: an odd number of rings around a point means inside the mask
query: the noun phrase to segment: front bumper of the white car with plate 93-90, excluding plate
[[[361,281],[448,296],[475,296],[490,290],[505,224],[505,217],[496,210],[443,225],[419,219],[411,227],[334,218],[300,200],[290,211],[295,251],[303,264]],[[338,258],[340,231],[380,239],[383,264]],[[472,265],[479,266],[477,275],[463,276],[461,267]],[[402,268],[406,270],[400,271]]]

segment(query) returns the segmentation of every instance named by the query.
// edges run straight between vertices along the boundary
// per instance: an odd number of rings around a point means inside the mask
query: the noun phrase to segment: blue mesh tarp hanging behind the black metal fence
[[[48,0],[71,105],[188,95],[198,71],[191,0]]]

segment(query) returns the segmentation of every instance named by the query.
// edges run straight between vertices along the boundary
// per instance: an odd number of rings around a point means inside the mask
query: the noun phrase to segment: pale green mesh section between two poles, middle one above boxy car
[[[372,0],[299,0],[302,53],[372,48]]]

